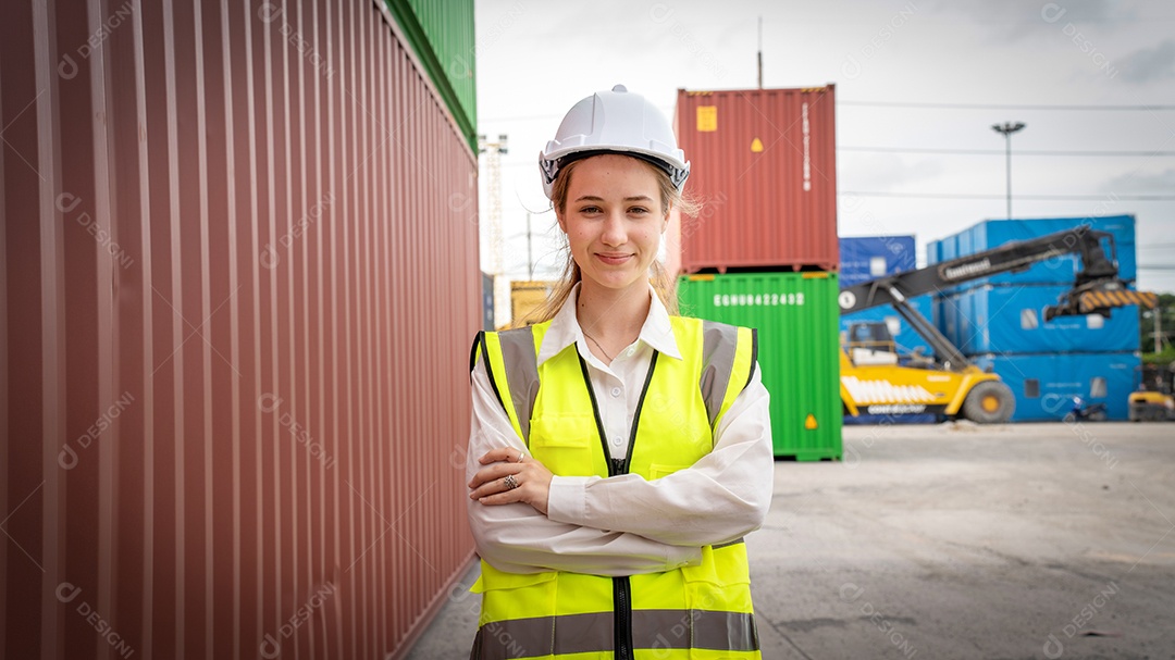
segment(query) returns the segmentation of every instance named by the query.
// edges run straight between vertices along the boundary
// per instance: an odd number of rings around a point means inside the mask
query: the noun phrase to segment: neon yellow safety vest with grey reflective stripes
[[[670,319],[683,359],[653,352],[624,460],[609,457],[575,344],[538,364],[550,322],[479,334],[470,368],[485,361],[515,432],[555,474],[652,480],[712,451],[713,430],[756,364],[753,330]],[[482,614],[470,658],[758,659],[750,581],[741,539],[704,547],[699,566],[622,578],[508,573],[483,560],[472,590],[482,593]]]

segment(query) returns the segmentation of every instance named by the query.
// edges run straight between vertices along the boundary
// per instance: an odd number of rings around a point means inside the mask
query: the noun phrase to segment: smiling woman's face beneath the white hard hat
[[[579,161],[556,215],[585,285],[647,288],[669,217],[652,166],[616,154]]]

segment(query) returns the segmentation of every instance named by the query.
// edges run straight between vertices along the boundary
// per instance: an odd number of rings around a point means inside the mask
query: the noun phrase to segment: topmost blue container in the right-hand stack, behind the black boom
[[[926,257],[928,263],[940,263],[991,250],[1013,241],[1038,238],[1082,224],[1088,224],[1097,231],[1108,231],[1114,236],[1114,243],[1117,249],[1117,276],[1121,280],[1134,281],[1137,277],[1139,268],[1135,256],[1135,222],[1133,215],[987,220],[953,236],[933,241],[926,248]],[[1107,256],[1109,256],[1108,252]],[[1081,260],[1076,255],[1053,257],[1038,262],[1022,272],[1003,272],[992,277],[974,280],[955,287],[951,291],[958,292],[983,284],[1072,284],[1080,268],[1080,262]]]

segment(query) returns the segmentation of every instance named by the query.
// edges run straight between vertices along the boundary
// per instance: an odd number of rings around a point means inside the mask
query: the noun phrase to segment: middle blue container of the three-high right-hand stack
[[[1139,350],[1137,305],[1045,321],[1068,287],[980,287],[944,298],[942,334],[966,355]]]

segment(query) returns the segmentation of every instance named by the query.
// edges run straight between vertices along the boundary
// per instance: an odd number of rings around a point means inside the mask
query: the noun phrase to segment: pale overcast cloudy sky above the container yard
[[[478,121],[508,135],[505,267],[555,268],[537,154],[563,114],[623,82],[672,116],[677,89],[837,85],[839,234],[925,244],[1013,215],[1137,218],[1139,288],[1175,291],[1175,2],[477,0]],[[687,154],[689,156],[689,154]],[[483,220],[488,204],[484,196]],[[1018,195],[1025,195],[1023,198]],[[486,223],[483,222],[483,227]],[[483,265],[489,255],[483,248]]]

